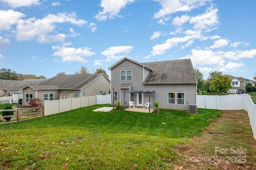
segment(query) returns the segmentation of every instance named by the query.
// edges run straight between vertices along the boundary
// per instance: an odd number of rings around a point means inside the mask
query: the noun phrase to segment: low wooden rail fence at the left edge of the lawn
[[[43,111],[39,112],[29,112],[29,113],[20,113],[21,111],[27,111],[31,109],[43,109]],[[5,112],[5,111],[13,111],[16,112],[14,115],[7,115],[7,116],[0,116],[0,118],[6,118],[6,117],[17,117],[17,121],[20,121],[20,116],[28,116],[28,115],[37,115],[37,114],[43,114],[44,116],[44,107],[26,107],[26,108],[18,108],[18,109],[2,109],[0,112]]]

